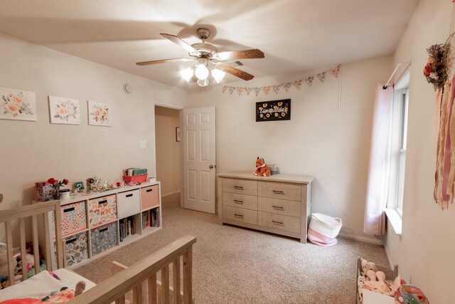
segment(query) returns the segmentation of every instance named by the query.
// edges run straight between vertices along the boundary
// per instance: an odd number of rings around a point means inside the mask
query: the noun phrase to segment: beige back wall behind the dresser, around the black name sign
[[[326,69],[237,85],[273,85]],[[253,172],[255,159],[261,156],[277,164],[282,173],[314,176],[314,212],[340,216],[343,234],[382,243],[382,239],[363,234],[363,214],[375,88],[387,80],[391,70],[390,57],[344,63],[341,108],[340,83],[332,75],[324,83],[316,79],[313,86],[290,88],[289,93],[282,89],[279,94],[239,96],[228,90],[222,93],[220,87],[191,90],[186,107],[217,107],[218,173]],[[257,101],[284,98],[291,98],[291,120],[255,122]]]

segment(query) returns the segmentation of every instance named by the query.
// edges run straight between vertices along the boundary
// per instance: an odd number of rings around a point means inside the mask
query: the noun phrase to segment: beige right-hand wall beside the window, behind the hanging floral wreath
[[[425,48],[446,41],[453,8],[451,1],[420,1],[394,56],[395,63],[412,61],[412,67],[402,240],[389,236],[386,249],[430,303],[454,302],[455,206],[441,211],[433,199],[436,93],[422,70]]]

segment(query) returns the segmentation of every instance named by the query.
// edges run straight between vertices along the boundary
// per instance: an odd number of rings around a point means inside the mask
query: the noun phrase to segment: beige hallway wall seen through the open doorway
[[[180,192],[181,142],[176,141],[176,127],[180,127],[179,111],[156,106],[156,179],[161,195]]]

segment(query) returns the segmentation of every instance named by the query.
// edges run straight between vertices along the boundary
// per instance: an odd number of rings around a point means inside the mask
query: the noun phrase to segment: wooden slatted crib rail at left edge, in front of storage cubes
[[[4,223],[5,234],[6,234],[6,255],[8,257],[8,276],[9,276],[9,285],[14,285],[16,279],[14,276],[14,268],[16,263],[14,262],[14,239],[13,239],[13,230],[18,224],[19,228],[19,237],[20,237],[20,246],[21,246],[21,267],[22,267],[22,279],[26,280],[27,276],[27,264],[26,259],[26,223],[28,219],[31,219],[31,232],[33,238],[33,256],[34,256],[34,268],[35,273],[40,272],[40,258],[39,253],[42,253],[45,256],[45,261],[48,266],[52,265],[50,258],[50,250],[53,248],[53,244],[50,244],[49,241],[49,227],[44,225],[44,229],[40,230],[38,227],[38,218],[43,216],[44,222],[48,222],[50,211],[53,211],[55,214],[55,244],[57,250],[57,266],[58,268],[63,268],[63,245],[62,245],[62,233],[60,230],[60,201],[48,201],[33,205],[21,206],[15,209],[7,209],[0,211],[0,223]],[[41,227],[42,229],[42,227]],[[38,234],[45,234],[45,243],[40,244],[38,242]],[[39,251],[39,246],[41,245],[41,252]],[[52,245],[52,246],[51,246]]]

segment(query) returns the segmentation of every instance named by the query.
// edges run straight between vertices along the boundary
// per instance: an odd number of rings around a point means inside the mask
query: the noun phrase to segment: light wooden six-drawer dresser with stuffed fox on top
[[[306,243],[313,177],[227,172],[218,177],[220,224],[282,234]]]

